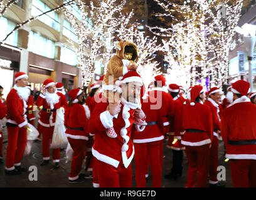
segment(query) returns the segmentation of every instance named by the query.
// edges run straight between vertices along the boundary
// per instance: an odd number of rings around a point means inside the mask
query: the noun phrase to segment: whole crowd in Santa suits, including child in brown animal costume
[[[217,178],[218,143],[223,140],[233,187],[256,187],[256,93],[250,93],[247,81],[238,80],[229,86],[224,99],[223,91],[216,87],[206,92],[195,85],[185,91],[178,84],[169,84],[165,91],[162,75],[155,76],[145,88],[136,72],[136,44],[122,40],[116,49],[107,74],[90,86],[87,98],[85,91],[76,88],[68,92],[67,101],[61,93],[63,84],[44,81],[35,101],[40,110],[37,129],[42,139],[41,166],[49,163],[56,113],[63,109],[65,134],[73,149],[70,183],[85,180],[82,164],[86,155],[85,166],[92,171],[93,187],[132,187],[133,158],[136,186],[146,187],[150,165],[152,187],[161,187],[164,139],[168,139],[173,167],[166,178],[178,179],[184,174],[186,153],[185,187],[225,187]],[[5,173],[10,175],[26,171],[21,161],[28,123],[33,125],[35,120],[34,99],[26,87],[28,75],[16,73],[15,82],[6,102],[0,103],[0,119],[8,119]],[[52,158],[58,169],[60,148],[53,149]]]

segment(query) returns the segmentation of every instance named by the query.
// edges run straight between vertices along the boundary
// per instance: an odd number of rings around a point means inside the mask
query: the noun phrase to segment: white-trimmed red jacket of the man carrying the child
[[[92,154],[99,161],[115,168],[119,166],[120,162],[124,164],[125,168],[128,168],[134,157],[131,132],[137,106],[132,103],[122,103],[117,119],[113,119],[109,111],[106,111],[109,103],[105,97],[104,102],[96,104],[89,120],[90,133],[95,133]],[[117,138],[107,136],[106,130],[111,127],[114,127]]]

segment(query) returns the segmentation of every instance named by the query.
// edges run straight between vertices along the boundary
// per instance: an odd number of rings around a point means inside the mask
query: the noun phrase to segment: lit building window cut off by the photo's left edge
[[[0,40],[3,39],[9,34],[9,32],[13,31],[14,27],[16,27],[16,23],[10,21],[5,17],[0,18]],[[11,35],[9,35],[8,39],[5,41],[6,44],[10,44],[12,46],[18,46],[18,30],[14,31]]]

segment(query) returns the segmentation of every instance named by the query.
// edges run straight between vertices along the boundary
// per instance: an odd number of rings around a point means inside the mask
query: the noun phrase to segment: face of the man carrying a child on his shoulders
[[[139,82],[124,84],[122,86],[122,97],[128,102],[135,103],[135,99],[139,99],[139,96],[141,95],[141,87],[142,84]]]

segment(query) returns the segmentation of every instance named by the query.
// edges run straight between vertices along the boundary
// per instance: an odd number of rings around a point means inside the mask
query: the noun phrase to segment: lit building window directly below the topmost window
[[[28,51],[48,58],[54,58],[55,44],[53,41],[41,36],[39,33],[30,31],[28,39]]]

